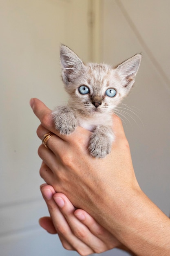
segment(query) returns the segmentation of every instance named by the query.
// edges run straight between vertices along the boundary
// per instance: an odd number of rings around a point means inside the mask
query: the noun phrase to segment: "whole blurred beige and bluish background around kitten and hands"
[[[0,255],[78,255],[38,225],[49,214],[39,190],[39,121],[29,99],[49,108],[66,102],[60,43],[85,62],[117,65],[142,53],[119,116],[137,180],[169,216],[169,10],[169,0],[0,0]],[[113,249],[102,255],[128,254]]]

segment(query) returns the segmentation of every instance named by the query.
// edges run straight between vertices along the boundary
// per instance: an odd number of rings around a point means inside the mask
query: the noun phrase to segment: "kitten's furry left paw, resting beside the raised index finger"
[[[77,127],[77,120],[73,112],[68,106],[60,106],[53,112],[53,120],[56,130],[59,130],[61,134],[69,135]]]

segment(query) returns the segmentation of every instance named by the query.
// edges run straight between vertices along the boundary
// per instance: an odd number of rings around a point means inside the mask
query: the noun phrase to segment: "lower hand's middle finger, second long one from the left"
[[[91,247],[95,253],[101,253],[104,252],[108,249],[113,248],[113,243],[112,246],[106,245],[99,236],[94,235],[89,228],[84,225],[83,223],[79,222],[77,218],[74,216],[74,211],[75,208],[73,204],[68,200],[68,198],[62,194],[62,193],[56,193],[53,196],[55,202],[58,204],[60,207],[60,211],[66,218],[69,226],[71,227],[71,230],[73,231],[73,234],[82,240],[86,245]],[[101,236],[104,236],[107,232],[103,232]],[[110,235],[111,236],[111,235]]]

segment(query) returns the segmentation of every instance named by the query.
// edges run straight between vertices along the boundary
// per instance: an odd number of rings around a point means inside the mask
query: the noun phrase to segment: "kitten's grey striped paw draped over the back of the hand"
[[[112,142],[113,133],[108,132],[107,128],[105,132],[103,132],[98,127],[91,135],[88,150],[93,157],[103,158],[110,153]]]

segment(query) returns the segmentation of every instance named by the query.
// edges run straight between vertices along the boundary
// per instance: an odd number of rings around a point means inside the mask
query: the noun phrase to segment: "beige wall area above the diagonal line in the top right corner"
[[[117,0],[117,4],[170,88],[170,1]]]

